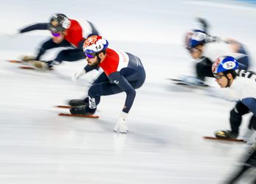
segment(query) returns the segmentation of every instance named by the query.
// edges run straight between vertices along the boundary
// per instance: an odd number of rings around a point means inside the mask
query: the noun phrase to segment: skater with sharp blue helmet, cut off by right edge
[[[254,139],[256,130],[256,74],[252,71],[238,70],[238,62],[234,57],[222,56],[212,64],[212,74],[221,88],[231,88],[239,97],[239,101],[230,112],[231,130],[215,132],[218,138],[237,138],[242,116],[253,113],[247,131],[247,140]]]

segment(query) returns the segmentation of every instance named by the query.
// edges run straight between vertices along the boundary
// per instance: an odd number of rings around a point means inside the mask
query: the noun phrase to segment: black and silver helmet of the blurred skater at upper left
[[[70,26],[69,18],[62,13],[55,13],[49,21],[48,29],[52,32],[63,32]]]

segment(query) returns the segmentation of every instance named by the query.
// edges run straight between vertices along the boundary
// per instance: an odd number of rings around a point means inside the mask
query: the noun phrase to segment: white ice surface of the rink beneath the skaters
[[[125,93],[103,96],[99,119],[60,117],[69,99],[86,96],[89,77],[71,81],[86,60],[54,71],[28,71],[7,63],[35,54],[48,31],[8,36],[52,13],[91,21],[110,46],[136,54],[147,72],[128,116],[127,135],[112,129]],[[168,77],[193,75],[184,33],[210,22],[210,34],[244,43],[255,70],[256,5],[239,1],[55,0],[1,1],[0,184],[217,184],[239,166],[246,144],[206,141],[229,129],[235,102],[209,91],[173,85]],[[47,52],[50,59],[56,50]],[[222,92],[209,80],[212,91]],[[241,134],[249,116],[245,117]],[[255,173],[254,173],[255,174]],[[243,180],[241,183],[249,183]]]

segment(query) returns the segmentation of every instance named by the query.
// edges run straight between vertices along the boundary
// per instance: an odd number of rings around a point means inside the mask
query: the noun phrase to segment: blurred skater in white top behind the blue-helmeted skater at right
[[[196,77],[184,77],[194,85],[204,85],[205,77],[213,77],[212,63],[217,57],[229,55],[238,61],[238,69],[247,70],[249,67],[249,57],[244,46],[238,41],[228,38],[221,39],[206,32],[194,29],[187,32],[185,47],[190,56],[196,62]]]

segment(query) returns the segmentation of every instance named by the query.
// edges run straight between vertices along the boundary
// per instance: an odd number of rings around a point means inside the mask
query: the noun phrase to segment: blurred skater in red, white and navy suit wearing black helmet
[[[51,68],[53,65],[60,64],[65,61],[76,61],[84,59],[83,42],[85,38],[91,35],[99,35],[97,29],[89,21],[83,19],[71,19],[66,15],[57,13],[52,15],[49,23],[33,24],[19,30],[19,33],[30,32],[32,30],[46,30],[48,29],[52,38],[46,40],[42,44],[36,57],[25,57],[24,60],[41,60],[41,56],[46,50],[54,49],[57,47],[65,47],[66,49],[58,53],[54,60],[45,61],[41,63],[46,68]],[[35,65],[38,66],[38,65]]]

